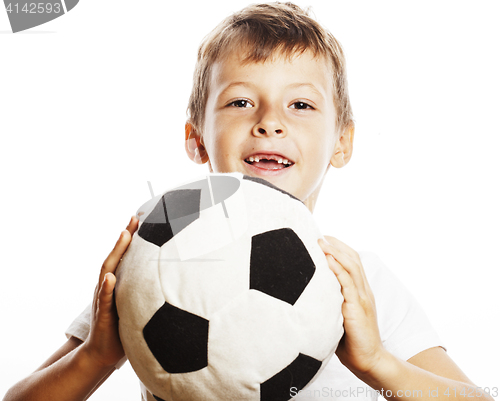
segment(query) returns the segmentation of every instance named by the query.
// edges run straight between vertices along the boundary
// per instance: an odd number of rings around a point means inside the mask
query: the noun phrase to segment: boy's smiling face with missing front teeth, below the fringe
[[[198,161],[208,159],[213,172],[264,178],[312,210],[330,161],[345,163],[335,121],[324,58],[306,51],[291,61],[276,56],[243,64],[232,54],[212,69],[198,133],[206,154]]]

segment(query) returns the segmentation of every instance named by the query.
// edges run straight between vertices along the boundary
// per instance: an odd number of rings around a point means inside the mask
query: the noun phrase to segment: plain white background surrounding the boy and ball
[[[9,33],[0,10],[0,395],[64,341],[99,268],[184,153],[201,39],[247,1],[82,0]],[[376,252],[449,355],[500,387],[500,25],[495,1],[299,1],[343,44],[354,156],[329,173],[324,234]],[[93,400],[138,400],[127,364]]]

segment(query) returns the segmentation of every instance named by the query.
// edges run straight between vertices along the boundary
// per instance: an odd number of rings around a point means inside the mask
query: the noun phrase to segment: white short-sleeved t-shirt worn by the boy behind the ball
[[[375,296],[380,337],[384,347],[394,356],[408,360],[428,348],[443,344],[427,316],[413,296],[373,253],[359,256]],[[68,327],[66,336],[85,341],[90,330],[89,305]],[[444,347],[443,347],[444,348]],[[117,364],[119,368],[126,358]],[[141,383],[143,401],[156,401]],[[325,369],[302,391],[293,387],[290,395],[296,401],[376,400],[378,394],[352,374],[334,355]]]

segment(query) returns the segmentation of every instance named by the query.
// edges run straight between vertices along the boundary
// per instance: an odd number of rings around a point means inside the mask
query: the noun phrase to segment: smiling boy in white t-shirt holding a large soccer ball
[[[340,168],[352,154],[354,123],[340,45],[296,6],[247,7],[223,21],[200,48],[185,133],[186,151],[196,163],[208,163],[214,172],[263,177],[313,211],[330,165]],[[124,356],[113,272],[137,226],[133,217],[103,264],[90,333],[84,323],[72,328],[67,343],[14,386],[6,400],[85,399],[113,372]],[[380,262],[326,238],[320,245],[342,286],[345,335],[338,359],[310,390],[297,394],[291,388],[290,395],[376,398],[360,387],[364,382],[387,398],[470,397],[473,383],[440,348],[425,316]],[[378,290],[380,321],[371,287]],[[394,296],[385,297],[384,289]],[[399,301],[402,308],[396,310]],[[390,320],[396,312],[400,320]],[[457,391],[436,396],[429,388]],[[480,391],[472,396],[491,399]],[[153,400],[145,392],[143,398]]]

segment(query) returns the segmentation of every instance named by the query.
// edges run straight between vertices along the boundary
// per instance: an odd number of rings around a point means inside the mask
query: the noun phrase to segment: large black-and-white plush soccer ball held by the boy
[[[157,400],[288,400],[319,374],[343,298],[300,200],[210,174],[140,212],[115,295],[125,353]]]

